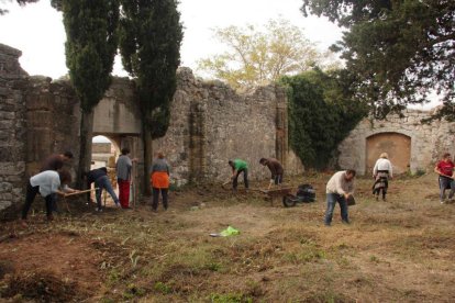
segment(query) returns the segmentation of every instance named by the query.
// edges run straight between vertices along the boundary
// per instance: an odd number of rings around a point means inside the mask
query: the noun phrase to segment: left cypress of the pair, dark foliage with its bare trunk
[[[80,99],[80,173],[90,167],[93,108],[111,83],[118,48],[118,0],[57,0],[64,16],[67,41],[66,65]],[[79,179],[79,178],[78,178]]]

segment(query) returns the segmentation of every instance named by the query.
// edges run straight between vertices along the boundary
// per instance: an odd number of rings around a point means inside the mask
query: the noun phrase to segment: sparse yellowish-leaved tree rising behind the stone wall
[[[217,29],[214,36],[228,46],[221,55],[199,61],[199,69],[235,89],[252,88],[324,65],[321,54],[303,31],[286,20],[270,20],[264,30],[253,25]]]

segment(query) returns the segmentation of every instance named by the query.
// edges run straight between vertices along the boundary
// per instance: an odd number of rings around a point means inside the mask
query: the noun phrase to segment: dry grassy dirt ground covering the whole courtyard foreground
[[[330,175],[318,201],[284,207],[256,191],[219,184],[174,191],[167,212],[70,201],[53,223],[42,204],[27,227],[0,227],[5,302],[455,302],[455,204],[441,204],[434,175],[399,177],[387,202],[356,181],[352,223],[325,227]],[[258,188],[260,184],[253,184]],[[65,210],[65,205],[60,205]],[[237,236],[210,237],[228,226]]]

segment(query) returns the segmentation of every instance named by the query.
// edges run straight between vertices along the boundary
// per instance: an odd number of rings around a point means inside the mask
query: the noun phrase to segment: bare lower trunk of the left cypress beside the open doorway
[[[90,170],[91,165],[91,139],[93,136],[93,110],[82,111],[80,119],[80,152],[79,166],[77,170],[76,186],[78,189],[86,189],[87,183],[82,180],[82,172]]]

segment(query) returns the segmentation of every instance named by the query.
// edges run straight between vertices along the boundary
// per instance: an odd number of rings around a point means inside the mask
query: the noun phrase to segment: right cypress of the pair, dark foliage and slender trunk
[[[152,139],[164,136],[169,124],[182,26],[176,0],[122,0],[121,4],[120,53],[125,70],[136,78],[148,182]]]

